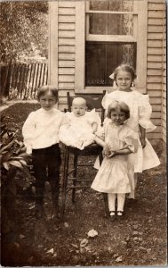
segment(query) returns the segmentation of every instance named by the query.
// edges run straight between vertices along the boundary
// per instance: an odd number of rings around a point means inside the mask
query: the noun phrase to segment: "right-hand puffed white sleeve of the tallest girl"
[[[142,128],[146,129],[147,132],[156,129],[156,126],[150,121],[152,114],[152,107],[149,103],[148,95],[140,95],[139,98],[139,124]]]

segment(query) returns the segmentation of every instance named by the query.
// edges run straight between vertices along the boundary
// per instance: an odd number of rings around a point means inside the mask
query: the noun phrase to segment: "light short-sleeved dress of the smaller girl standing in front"
[[[116,126],[106,121],[101,133],[112,151],[130,148],[132,152],[137,145],[136,133],[125,124]],[[131,154],[134,155],[134,154]],[[104,193],[130,193],[134,189],[133,158],[129,155],[116,155],[112,158],[104,157],[99,172],[92,182],[92,188]]]

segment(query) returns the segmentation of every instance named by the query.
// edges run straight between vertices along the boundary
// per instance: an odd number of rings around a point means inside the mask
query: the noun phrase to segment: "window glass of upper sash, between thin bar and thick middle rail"
[[[132,14],[89,14],[89,33],[95,35],[132,35]]]

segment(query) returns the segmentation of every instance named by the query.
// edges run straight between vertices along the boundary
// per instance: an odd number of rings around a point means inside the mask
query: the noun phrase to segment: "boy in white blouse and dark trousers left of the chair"
[[[53,213],[59,215],[60,147],[59,130],[64,114],[54,107],[58,91],[52,86],[39,89],[37,99],[41,108],[28,115],[22,129],[27,153],[32,153],[36,177],[36,216],[43,215],[44,182],[51,185]]]

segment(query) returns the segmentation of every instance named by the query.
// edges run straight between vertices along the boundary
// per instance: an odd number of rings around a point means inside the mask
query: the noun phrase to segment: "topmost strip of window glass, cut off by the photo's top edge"
[[[133,0],[90,1],[90,10],[132,12]]]

